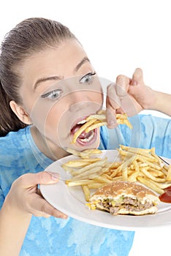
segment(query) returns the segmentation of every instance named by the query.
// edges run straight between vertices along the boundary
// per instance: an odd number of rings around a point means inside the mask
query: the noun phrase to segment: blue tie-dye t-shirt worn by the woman
[[[130,121],[133,129],[126,125],[116,129],[102,127],[99,148],[115,149],[119,144],[155,147],[157,154],[171,158],[170,119],[138,115]],[[30,127],[0,138],[0,207],[16,178],[45,170],[52,162],[35,145]],[[126,256],[133,240],[133,231],[97,227],[71,217],[33,216],[20,256]]]

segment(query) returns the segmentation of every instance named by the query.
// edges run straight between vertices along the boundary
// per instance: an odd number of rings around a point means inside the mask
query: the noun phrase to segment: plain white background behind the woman
[[[171,93],[169,0],[11,0],[0,9],[0,40],[25,18],[58,20],[83,44],[99,76],[115,81],[141,67],[147,85]],[[165,230],[137,232],[130,256],[170,254]]]

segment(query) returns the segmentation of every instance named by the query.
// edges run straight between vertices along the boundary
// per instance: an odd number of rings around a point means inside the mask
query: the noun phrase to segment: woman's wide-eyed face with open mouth
[[[99,146],[99,129],[72,143],[83,120],[102,108],[102,87],[76,39],[42,50],[25,61],[20,94],[32,123],[57,148],[83,150]],[[56,148],[56,149],[57,149]]]

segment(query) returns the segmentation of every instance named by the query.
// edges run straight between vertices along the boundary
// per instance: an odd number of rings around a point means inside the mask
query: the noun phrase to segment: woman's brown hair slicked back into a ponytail
[[[26,127],[9,106],[11,100],[22,104],[18,67],[28,56],[69,38],[75,35],[66,26],[45,18],[23,20],[4,37],[0,55],[0,137]]]

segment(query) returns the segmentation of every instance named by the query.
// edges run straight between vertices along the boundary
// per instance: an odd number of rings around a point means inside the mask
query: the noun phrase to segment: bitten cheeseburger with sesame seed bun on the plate
[[[151,189],[135,182],[115,181],[98,189],[86,205],[112,215],[145,215],[155,214],[159,202],[159,197]]]

